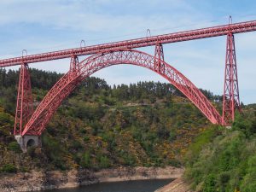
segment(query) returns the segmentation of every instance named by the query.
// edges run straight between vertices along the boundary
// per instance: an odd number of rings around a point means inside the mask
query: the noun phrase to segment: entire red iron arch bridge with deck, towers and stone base
[[[26,147],[29,145],[39,145],[40,135],[45,126],[61,102],[74,88],[92,73],[119,64],[145,67],[158,73],[173,84],[177,90],[180,90],[184,96],[188,97],[212,124],[231,125],[235,119],[236,110],[241,111],[234,34],[253,31],[256,31],[256,20],[0,60],[0,67],[20,65],[15,138],[23,151],[26,151]],[[218,36],[227,37],[222,114],[218,113],[212,102],[201,93],[195,84],[164,60],[162,46],[163,44]],[[154,55],[148,55],[137,50],[137,48],[148,46],[154,46]],[[81,55],[89,56],[83,61],[79,61]],[[29,64],[64,58],[71,59],[69,71],[56,82],[34,110]]]

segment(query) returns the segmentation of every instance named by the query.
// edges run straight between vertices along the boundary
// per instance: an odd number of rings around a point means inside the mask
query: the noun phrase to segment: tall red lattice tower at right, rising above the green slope
[[[223,125],[230,125],[234,121],[236,109],[241,111],[236,67],[236,48],[234,35],[229,33],[227,35],[224,73]]]

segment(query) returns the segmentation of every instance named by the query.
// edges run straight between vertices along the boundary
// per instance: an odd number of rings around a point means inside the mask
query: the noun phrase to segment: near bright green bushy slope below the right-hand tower
[[[236,114],[232,128],[212,126],[189,146],[185,178],[195,191],[256,191],[256,108]]]

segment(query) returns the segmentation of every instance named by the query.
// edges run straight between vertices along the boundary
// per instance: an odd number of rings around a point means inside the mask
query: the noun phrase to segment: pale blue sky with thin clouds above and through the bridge
[[[253,0],[0,0],[0,59],[256,20]],[[256,102],[256,32],[235,35],[241,102]],[[222,95],[226,37],[164,44],[165,61],[198,88]],[[154,47],[142,48],[154,54]],[[80,57],[82,61],[84,57]],[[69,59],[30,67],[67,73]],[[9,67],[7,69],[17,69]],[[119,65],[93,76],[108,84],[167,82],[143,67]]]

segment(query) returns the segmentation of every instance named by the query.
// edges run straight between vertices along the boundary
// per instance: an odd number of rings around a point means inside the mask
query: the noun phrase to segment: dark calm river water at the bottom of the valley
[[[170,183],[171,179],[98,183],[74,189],[53,189],[44,192],[154,192]]]

